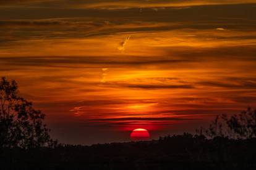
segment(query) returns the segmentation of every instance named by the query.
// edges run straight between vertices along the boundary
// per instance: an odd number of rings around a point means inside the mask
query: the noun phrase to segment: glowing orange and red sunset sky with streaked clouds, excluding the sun
[[[256,0],[0,0],[0,76],[67,144],[256,107]]]

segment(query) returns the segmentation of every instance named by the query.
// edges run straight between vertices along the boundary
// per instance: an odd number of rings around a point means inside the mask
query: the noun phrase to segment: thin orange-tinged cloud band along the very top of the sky
[[[182,6],[205,6],[211,4],[243,4],[253,3],[254,0],[222,0],[222,1],[210,1],[210,0],[151,0],[151,1],[135,1],[135,0],[82,0],[82,1],[70,1],[70,0],[10,0],[0,1],[4,6],[43,6],[43,7],[76,7],[76,8],[100,8],[100,9],[127,9],[127,8],[146,8],[146,7],[182,7]]]

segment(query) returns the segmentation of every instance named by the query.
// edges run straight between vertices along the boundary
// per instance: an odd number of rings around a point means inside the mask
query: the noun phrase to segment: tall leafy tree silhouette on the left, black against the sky
[[[56,141],[43,124],[45,114],[19,95],[17,83],[0,81],[0,147],[53,147]]]

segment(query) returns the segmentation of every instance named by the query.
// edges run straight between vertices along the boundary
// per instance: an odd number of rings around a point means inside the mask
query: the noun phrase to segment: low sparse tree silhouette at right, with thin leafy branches
[[[216,116],[208,129],[201,129],[200,134],[208,137],[228,137],[230,139],[251,139],[256,137],[256,110],[248,108],[235,115]]]

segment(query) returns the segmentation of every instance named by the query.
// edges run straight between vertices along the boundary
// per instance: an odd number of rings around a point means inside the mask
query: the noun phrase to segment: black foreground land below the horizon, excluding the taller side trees
[[[256,169],[256,139],[163,137],[145,142],[1,149],[1,169]]]

